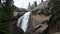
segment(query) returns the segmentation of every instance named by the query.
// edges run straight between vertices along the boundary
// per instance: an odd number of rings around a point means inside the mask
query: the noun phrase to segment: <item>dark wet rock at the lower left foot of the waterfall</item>
[[[12,21],[11,34],[24,34],[24,31],[17,26],[18,18]]]

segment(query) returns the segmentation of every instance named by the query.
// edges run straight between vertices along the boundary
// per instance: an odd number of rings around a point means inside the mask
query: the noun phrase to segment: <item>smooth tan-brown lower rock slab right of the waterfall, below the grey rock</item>
[[[43,33],[48,27],[48,21],[50,19],[50,15],[31,15],[28,29],[26,34],[40,34]]]

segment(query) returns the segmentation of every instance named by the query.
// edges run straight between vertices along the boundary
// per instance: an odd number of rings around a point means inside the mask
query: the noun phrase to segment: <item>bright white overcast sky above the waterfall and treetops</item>
[[[18,8],[27,9],[29,2],[30,4],[33,4],[34,1],[37,1],[37,4],[41,3],[41,0],[14,0],[14,5],[17,6]]]

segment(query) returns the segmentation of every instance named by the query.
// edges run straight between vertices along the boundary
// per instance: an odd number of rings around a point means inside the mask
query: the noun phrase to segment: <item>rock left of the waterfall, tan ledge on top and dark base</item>
[[[24,34],[24,31],[17,26],[17,20],[28,11],[27,9],[17,8],[16,6],[13,6],[13,10],[14,18],[11,23],[11,34]]]

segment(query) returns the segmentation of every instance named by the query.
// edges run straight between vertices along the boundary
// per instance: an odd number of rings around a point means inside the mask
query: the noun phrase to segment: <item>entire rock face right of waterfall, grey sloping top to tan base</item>
[[[48,22],[51,18],[51,6],[48,7],[49,1],[42,2],[40,5],[32,9],[32,14],[28,23],[27,34],[44,34]],[[48,9],[49,8],[49,9]],[[43,12],[43,13],[42,13]],[[47,15],[47,13],[49,15]]]

